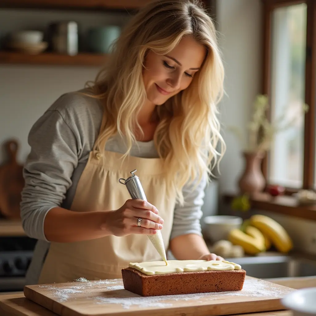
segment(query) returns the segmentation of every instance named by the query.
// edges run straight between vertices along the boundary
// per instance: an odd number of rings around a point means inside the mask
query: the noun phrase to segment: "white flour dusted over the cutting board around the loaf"
[[[131,293],[124,289],[122,280],[103,280],[97,282],[83,282],[79,285],[69,286],[66,289],[60,289],[51,285],[41,285],[40,287],[49,290],[49,295],[53,295],[58,301],[67,301],[68,299],[76,299],[77,293],[91,295],[92,289],[104,289],[104,292],[98,293],[96,297],[89,297],[96,304],[119,304],[124,309],[129,309],[132,306],[138,308],[146,307],[170,307],[173,301],[197,301],[202,303],[205,301],[215,300],[218,296],[245,296],[245,297],[274,297],[281,298],[285,294],[282,287],[273,286],[273,283],[266,283],[260,279],[247,279],[244,282],[243,289],[240,291],[230,292],[212,292],[212,293],[197,293],[185,295],[164,295],[142,297]],[[285,288],[284,288],[285,289]],[[293,289],[294,290],[294,289]],[[114,292],[113,291],[117,291]],[[289,289],[287,288],[286,293]],[[93,292],[95,294],[95,291]],[[93,295],[93,294],[92,294]]]

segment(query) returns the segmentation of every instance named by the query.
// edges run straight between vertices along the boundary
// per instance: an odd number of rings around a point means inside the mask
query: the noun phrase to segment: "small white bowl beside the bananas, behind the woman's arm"
[[[228,233],[234,228],[240,228],[243,219],[238,216],[214,215],[204,217],[206,232],[211,241],[227,239]]]

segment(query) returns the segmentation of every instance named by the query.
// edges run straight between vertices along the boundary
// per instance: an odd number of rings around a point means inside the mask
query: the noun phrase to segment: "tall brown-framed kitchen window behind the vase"
[[[316,0],[263,0],[263,91],[270,119],[284,113],[294,124],[276,134],[263,172],[288,192],[316,188]],[[307,113],[302,106],[307,104]],[[284,111],[285,109],[285,111]]]

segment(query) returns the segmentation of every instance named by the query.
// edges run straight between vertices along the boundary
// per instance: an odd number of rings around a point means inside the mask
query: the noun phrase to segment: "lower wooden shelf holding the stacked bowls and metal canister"
[[[106,61],[106,55],[82,53],[75,56],[42,53],[29,55],[18,52],[0,51],[0,64],[30,64],[30,65],[70,65],[70,66],[101,66]]]

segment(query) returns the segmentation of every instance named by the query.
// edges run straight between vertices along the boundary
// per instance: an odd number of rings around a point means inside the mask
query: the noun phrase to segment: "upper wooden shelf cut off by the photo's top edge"
[[[4,8],[138,9],[150,0],[0,0]]]

